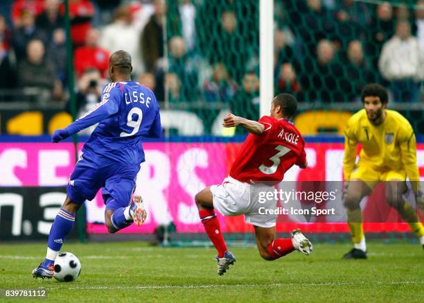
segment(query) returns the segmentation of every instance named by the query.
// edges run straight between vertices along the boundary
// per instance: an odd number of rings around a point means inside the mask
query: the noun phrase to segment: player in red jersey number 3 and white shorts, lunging
[[[296,110],[297,101],[292,95],[279,94],[272,100],[270,116],[259,121],[233,114],[224,118],[225,128],[242,125],[249,135],[224,182],[206,187],[195,196],[200,220],[218,251],[218,275],[223,275],[236,258],[227,250],[214,209],[224,216],[244,214],[246,222],[254,225],[256,244],[265,260],[279,259],[294,250],[306,255],[312,252],[312,244],[300,230],[294,230],[291,238],[276,239],[276,214],[260,211],[276,208],[275,199],[264,202],[260,197],[273,192],[290,167],[308,166],[305,141],[288,121]]]

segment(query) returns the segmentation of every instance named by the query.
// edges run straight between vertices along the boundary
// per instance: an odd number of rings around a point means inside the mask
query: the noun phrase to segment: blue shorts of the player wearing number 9
[[[71,201],[82,204],[85,200],[93,200],[102,189],[106,210],[127,207],[139,170],[140,165],[124,166],[105,157],[84,154],[69,178],[68,196]]]

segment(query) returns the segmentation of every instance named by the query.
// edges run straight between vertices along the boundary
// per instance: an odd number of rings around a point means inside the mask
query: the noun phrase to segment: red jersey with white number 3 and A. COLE
[[[305,140],[285,119],[263,116],[260,135],[249,134],[231,166],[230,176],[240,182],[281,182],[294,164],[306,163]]]

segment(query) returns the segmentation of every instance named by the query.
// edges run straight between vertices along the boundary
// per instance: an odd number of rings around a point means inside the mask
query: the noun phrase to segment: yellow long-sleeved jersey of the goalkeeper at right
[[[405,171],[409,180],[419,181],[416,139],[411,124],[394,110],[386,110],[381,125],[369,122],[364,109],[353,114],[344,130],[344,179],[355,168],[357,144],[362,145],[359,165],[375,171]]]

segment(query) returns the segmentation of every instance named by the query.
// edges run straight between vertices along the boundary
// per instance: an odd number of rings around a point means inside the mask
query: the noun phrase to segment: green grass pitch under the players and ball
[[[220,277],[212,248],[67,243],[63,251],[76,254],[82,272],[60,283],[30,274],[43,243],[1,244],[0,288],[46,288],[52,302],[423,302],[420,245],[371,242],[369,259],[342,260],[350,248],[316,244],[309,257],[293,252],[276,261],[260,259],[254,247],[231,248],[238,261]]]

